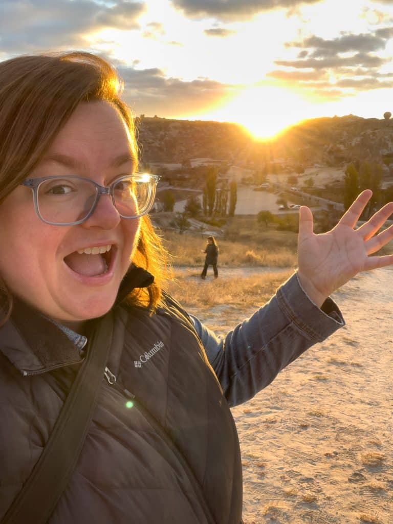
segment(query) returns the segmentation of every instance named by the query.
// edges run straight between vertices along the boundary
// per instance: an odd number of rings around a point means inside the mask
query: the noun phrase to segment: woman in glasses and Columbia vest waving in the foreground
[[[218,340],[162,292],[165,252],[146,215],[157,179],[137,173],[118,88],[110,65],[87,53],[0,63],[0,518],[113,319],[83,445],[45,521],[238,524],[229,406],[344,324],[328,297],[392,263],[367,255],[392,238],[391,228],[374,235],[393,204],[354,230],[365,191],[324,235],[301,208],[297,273]]]

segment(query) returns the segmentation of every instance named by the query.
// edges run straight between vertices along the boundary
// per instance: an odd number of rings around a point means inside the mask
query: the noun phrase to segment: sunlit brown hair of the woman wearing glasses
[[[134,119],[120,99],[122,90],[114,68],[91,53],[50,53],[0,62],[0,204],[34,169],[81,102],[102,100],[117,108],[129,129],[136,169]],[[140,231],[133,262],[150,271],[155,282],[132,291],[127,301],[154,309],[169,275],[168,257],[147,215]],[[13,297],[1,276],[0,295],[0,308],[8,304],[3,325],[12,312]]]

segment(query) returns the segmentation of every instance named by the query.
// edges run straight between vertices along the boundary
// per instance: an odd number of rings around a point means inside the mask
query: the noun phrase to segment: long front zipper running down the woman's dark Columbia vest
[[[172,453],[177,457],[185,473],[187,474],[188,479],[192,487],[194,488],[195,494],[198,496],[201,507],[206,517],[206,521],[209,524],[216,524],[216,521],[212,515],[211,510],[209,506],[206,504],[205,496],[202,492],[202,488],[199,484],[198,479],[195,477],[195,474],[192,471],[190,465],[188,464],[187,459],[185,459],[183,453],[178,449],[176,444],[174,444],[172,440],[169,438],[167,432],[162,427],[162,425],[158,422],[158,420],[156,420],[156,418],[150,413],[150,411],[148,411],[145,408],[145,406],[139,400],[137,400],[137,398],[135,397],[133,393],[131,393],[130,391],[128,391],[128,389],[118,384],[116,376],[111,372],[111,370],[108,367],[105,367],[104,376],[110,386],[114,387],[117,391],[121,392],[123,396],[132,400],[133,406],[135,406],[138,409],[138,411],[140,411],[143,414],[143,416],[147,419],[151,427],[165,441],[165,443],[167,444],[169,449],[172,451]]]

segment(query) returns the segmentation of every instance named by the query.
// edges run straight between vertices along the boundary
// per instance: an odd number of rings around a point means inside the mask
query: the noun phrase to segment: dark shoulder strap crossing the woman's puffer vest
[[[43,524],[77,463],[92,418],[111,346],[113,313],[99,322],[88,352],[41,456],[1,524]]]

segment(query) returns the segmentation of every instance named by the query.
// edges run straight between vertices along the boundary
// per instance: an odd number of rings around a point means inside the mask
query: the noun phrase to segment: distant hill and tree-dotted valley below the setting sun
[[[293,228],[288,215],[301,204],[333,216],[370,188],[370,215],[393,199],[393,119],[386,115],[305,121],[270,141],[236,124],[141,115],[140,169],[162,177],[153,213],[173,214],[174,229],[195,220],[220,227],[244,215]]]

